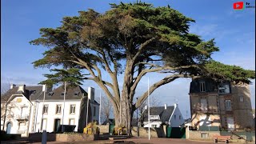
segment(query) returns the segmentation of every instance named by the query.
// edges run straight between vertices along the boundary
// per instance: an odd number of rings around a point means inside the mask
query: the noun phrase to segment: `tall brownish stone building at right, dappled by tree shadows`
[[[217,83],[206,78],[190,82],[192,126],[220,126],[225,130],[254,129],[248,84]]]

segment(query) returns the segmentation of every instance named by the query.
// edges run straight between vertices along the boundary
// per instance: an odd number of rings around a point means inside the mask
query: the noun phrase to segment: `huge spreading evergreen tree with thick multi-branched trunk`
[[[211,54],[218,51],[214,39],[204,41],[190,34],[190,22],[194,20],[170,6],[154,7],[144,2],[110,5],[105,13],[79,11],[78,16],[64,17],[57,28],[40,29],[41,38],[30,43],[49,50],[33,64],[56,66],[55,71],[62,71],[66,80],[74,83],[96,82],[113,105],[115,125],[126,126],[129,134],[134,110],[148,96],[145,90],[134,102],[135,90],[146,74],[168,74],[150,86],[150,94],[178,78],[208,76],[250,82],[255,77],[253,70],[211,60]],[[102,77],[102,71],[111,82]],[[122,90],[118,74],[124,75]],[[48,82],[58,82],[58,76],[46,75]]]

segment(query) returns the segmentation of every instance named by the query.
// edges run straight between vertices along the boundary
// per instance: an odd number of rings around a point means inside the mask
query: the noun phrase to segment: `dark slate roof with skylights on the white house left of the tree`
[[[59,86],[58,88],[48,91],[46,93],[45,100],[62,100],[64,98],[64,86]],[[77,93],[78,95],[74,95]],[[82,89],[81,86],[76,86],[74,88],[66,89],[65,99],[81,99],[83,96],[87,96],[85,90]],[[43,94],[39,97],[31,95],[30,100],[43,100]]]

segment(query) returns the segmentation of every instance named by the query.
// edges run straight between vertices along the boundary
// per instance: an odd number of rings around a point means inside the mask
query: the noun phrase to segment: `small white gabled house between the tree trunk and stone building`
[[[179,127],[185,122],[176,103],[174,103],[174,106],[165,104],[165,106],[150,107],[150,124],[148,122],[147,107],[144,113],[143,127],[160,127],[162,124],[170,127]]]

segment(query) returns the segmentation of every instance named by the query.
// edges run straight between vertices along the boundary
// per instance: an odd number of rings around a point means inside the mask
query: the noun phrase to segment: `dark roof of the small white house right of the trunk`
[[[159,115],[161,122],[168,122],[171,114],[173,114],[174,106],[167,106],[165,110],[165,106],[158,107],[150,107],[150,115]],[[144,115],[144,121],[148,121],[148,113],[146,112]],[[155,121],[155,120],[151,120]]]

